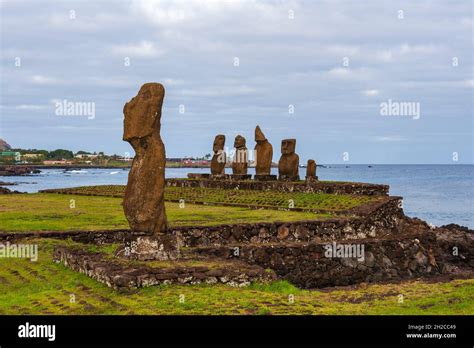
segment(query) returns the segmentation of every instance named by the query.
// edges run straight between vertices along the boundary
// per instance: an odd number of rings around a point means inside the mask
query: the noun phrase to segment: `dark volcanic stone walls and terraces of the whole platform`
[[[167,185],[248,189],[257,185],[260,189],[304,191],[326,190],[334,184],[171,179]],[[58,247],[54,259],[116,289],[199,283],[246,286],[275,279],[288,280],[300,288],[321,288],[465,274],[474,269],[472,231],[459,226],[433,228],[406,217],[401,197],[387,196],[388,187],[384,185],[347,183],[334,187],[339,192],[381,197],[337,218],[171,227],[167,236],[176,242],[177,248],[163,257],[157,247],[158,259],[167,260],[167,265],[156,261],[154,247],[150,249],[149,243],[145,247],[153,254],[150,258],[125,257],[122,245],[122,253],[119,248],[115,255],[86,252],[83,250],[86,248]],[[49,232],[43,233],[53,237]],[[126,230],[72,232],[69,236],[61,232],[56,237],[93,244],[147,238],[143,233]],[[0,234],[0,240],[15,238]],[[342,248],[346,254],[328,255],[328,248]],[[457,255],[453,255],[454,248]]]

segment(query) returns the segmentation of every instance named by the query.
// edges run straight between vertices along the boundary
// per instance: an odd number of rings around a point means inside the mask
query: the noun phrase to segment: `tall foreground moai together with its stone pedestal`
[[[165,89],[159,83],[145,83],[123,108],[123,140],[135,150],[123,198],[123,210],[132,231],[116,251],[116,256],[138,260],[175,260],[179,258],[176,236],[165,233],[164,205],[165,146],[160,136],[161,107]]]

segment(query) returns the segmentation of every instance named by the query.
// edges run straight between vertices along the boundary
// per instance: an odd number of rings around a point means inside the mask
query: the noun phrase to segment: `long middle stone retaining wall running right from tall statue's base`
[[[185,247],[376,238],[397,233],[405,218],[400,203],[401,198],[393,197],[360,217],[177,227],[171,228],[170,233]]]

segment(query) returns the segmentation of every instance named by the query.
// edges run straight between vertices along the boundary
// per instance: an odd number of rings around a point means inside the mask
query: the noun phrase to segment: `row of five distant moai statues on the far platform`
[[[276,180],[276,175],[271,175],[273,159],[273,147],[263,134],[259,126],[255,128],[255,180]],[[213,156],[211,160],[211,174],[214,177],[224,177],[227,163],[227,154],[224,151],[225,135],[219,134],[214,139]],[[246,140],[237,135],[234,141],[235,154],[232,159],[232,176],[234,179],[250,179],[248,170],[248,150]],[[299,156],[296,151],[296,139],[283,139],[281,142],[281,157],[278,162],[278,179],[297,181],[299,180]],[[306,180],[317,180],[316,162],[308,160],[306,166]]]

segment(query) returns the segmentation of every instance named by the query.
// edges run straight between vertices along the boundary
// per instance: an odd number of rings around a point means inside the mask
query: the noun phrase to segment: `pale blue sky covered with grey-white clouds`
[[[253,148],[259,124],[274,160],[296,138],[302,161],[473,163],[472,4],[1,1],[0,137],[123,154],[124,103],[161,82],[168,157],[218,133]],[[419,114],[383,115],[389,100]]]

